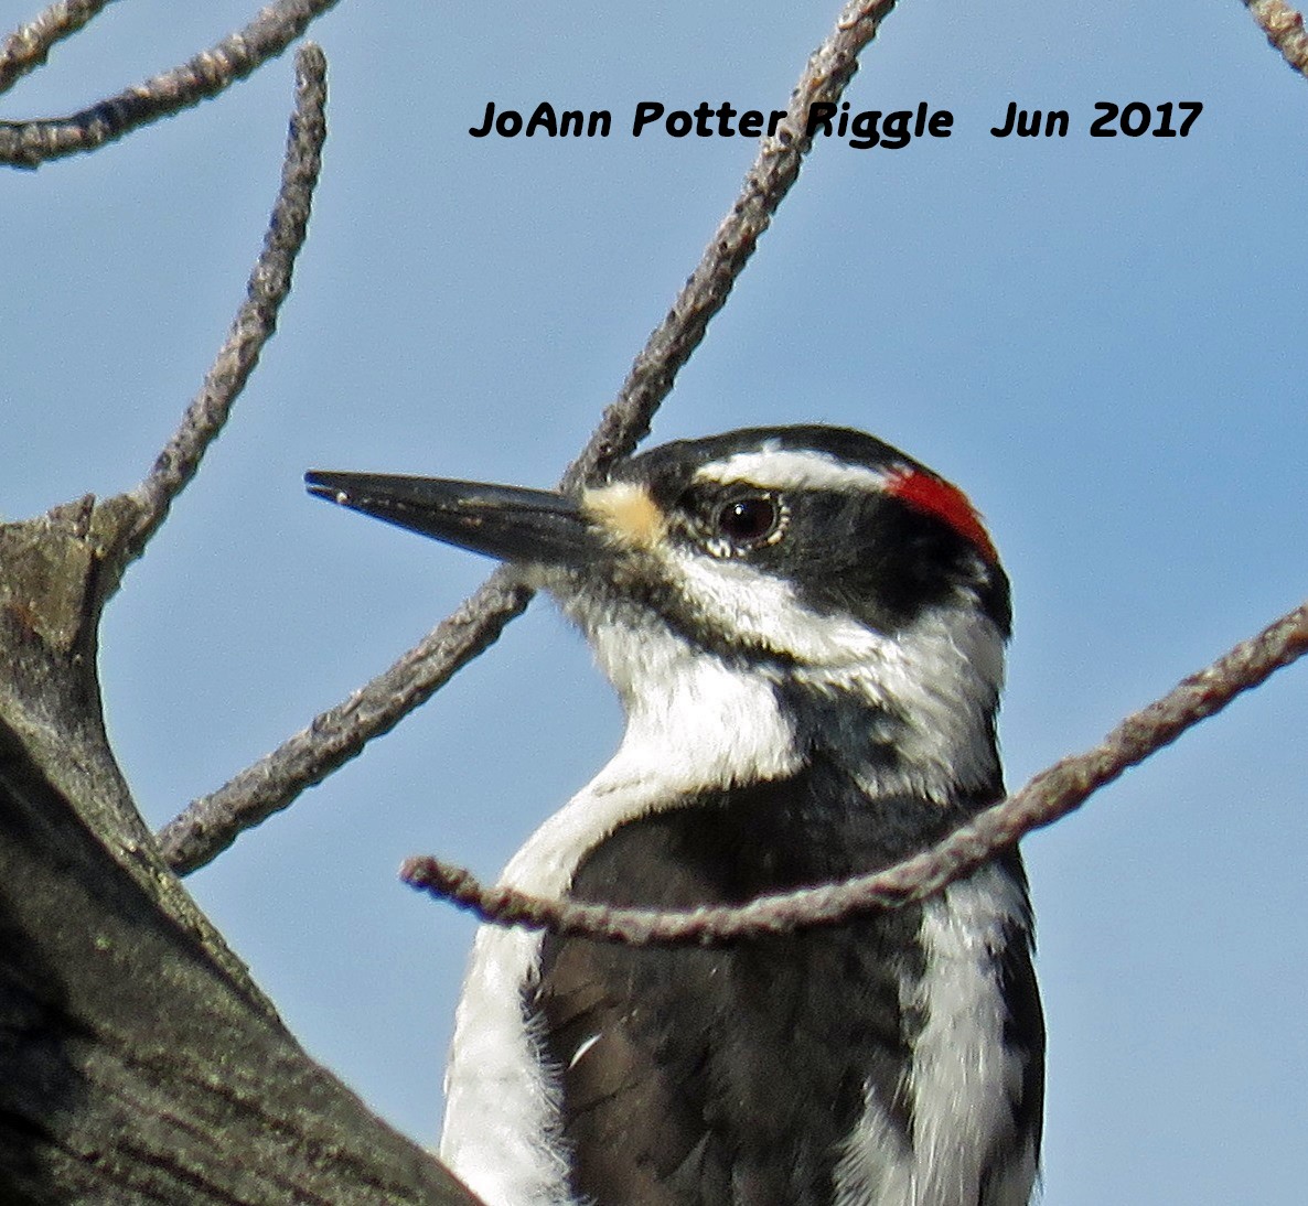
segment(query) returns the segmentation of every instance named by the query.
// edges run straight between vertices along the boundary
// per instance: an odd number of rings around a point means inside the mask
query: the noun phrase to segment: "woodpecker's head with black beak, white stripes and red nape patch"
[[[680,710],[683,729],[748,729],[757,717],[723,684],[763,684],[791,748],[752,769],[725,757],[723,778],[768,777],[827,742],[899,767],[929,795],[998,782],[1007,577],[965,496],[879,439],[791,426],[678,441],[576,497],[368,474],[306,481],[523,566],[586,633],[629,723],[657,714],[671,732]]]

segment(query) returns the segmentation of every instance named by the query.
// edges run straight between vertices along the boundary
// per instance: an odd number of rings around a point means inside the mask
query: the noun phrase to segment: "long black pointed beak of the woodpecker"
[[[577,504],[548,491],[317,471],[305,474],[305,485],[319,498],[501,561],[579,568],[602,548]]]

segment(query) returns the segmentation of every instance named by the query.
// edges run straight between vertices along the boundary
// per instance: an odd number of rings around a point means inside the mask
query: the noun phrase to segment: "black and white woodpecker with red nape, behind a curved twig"
[[[1007,578],[964,494],[879,439],[729,432],[577,497],[307,481],[525,566],[621,697],[612,761],[505,883],[739,903],[883,867],[1002,794]],[[446,1091],[441,1154],[489,1206],[1025,1206],[1044,1023],[1020,857],[708,947],[483,927]]]

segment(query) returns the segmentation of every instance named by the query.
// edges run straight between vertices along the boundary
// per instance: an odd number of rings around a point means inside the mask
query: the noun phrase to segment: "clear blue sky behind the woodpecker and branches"
[[[7,98],[65,112],[252,5],[111,5]],[[464,10],[468,9],[468,10]],[[835,4],[343,0],[296,292],[102,644],[152,823],[344,697],[489,569],[323,506],[306,468],[548,485],[734,199],[748,139],[627,135],[638,101],[783,107]],[[3,24],[31,16],[5,0]],[[286,56],[94,156],[0,177],[0,511],[136,481],[258,251]],[[1014,785],[1305,594],[1308,86],[1235,0],[904,0],[854,110],[950,139],[823,141],[655,439],[865,428],[956,480],[1015,583]],[[488,101],[608,109],[607,140],[473,139]],[[1065,139],[989,133],[1010,101]],[[1185,139],[1095,102],[1201,101]],[[1025,844],[1050,1027],[1049,1206],[1300,1201],[1308,1180],[1305,671]],[[471,922],[398,883],[493,875],[613,748],[579,638],[536,604],[398,731],[191,879],[292,1028],[420,1139]]]

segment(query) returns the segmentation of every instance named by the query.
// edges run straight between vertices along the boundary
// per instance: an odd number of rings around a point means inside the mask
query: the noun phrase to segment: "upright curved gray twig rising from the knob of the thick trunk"
[[[327,59],[314,43],[296,55],[296,109],[286,135],[281,187],[272,208],[263,251],[246,286],[226,341],[218,351],[200,391],[160,453],[149,475],[129,492],[136,506],[132,530],[122,544],[119,570],[139,557],[167,517],[173,500],[200,467],[205,450],[222,432],[232,407],[259,362],[264,344],[277,327],[277,311],[290,293],[296,256],[305,245],[314,186],[327,137]]]

